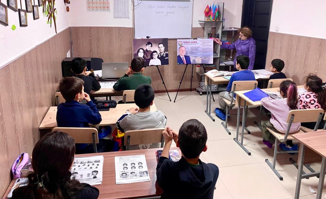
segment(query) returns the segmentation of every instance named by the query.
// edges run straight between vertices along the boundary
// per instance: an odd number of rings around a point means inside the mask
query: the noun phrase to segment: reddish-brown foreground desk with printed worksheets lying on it
[[[171,147],[171,150],[178,149],[181,157],[179,148]],[[98,199],[131,199],[131,198],[146,198],[146,197],[159,197],[162,195],[162,189],[156,184],[156,154],[159,149],[143,149],[143,150],[131,150],[131,151],[117,151],[107,153],[96,153],[96,154],[80,154],[76,157],[88,157],[88,156],[104,156],[103,165],[103,181],[101,185],[95,185],[100,195]],[[146,163],[148,167],[148,174],[151,181],[137,182],[129,184],[115,184],[115,167],[114,157],[116,156],[132,156],[132,155],[143,155],[145,154]],[[14,180],[10,183],[3,199],[6,199],[10,188],[12,187]]]

